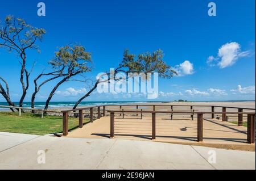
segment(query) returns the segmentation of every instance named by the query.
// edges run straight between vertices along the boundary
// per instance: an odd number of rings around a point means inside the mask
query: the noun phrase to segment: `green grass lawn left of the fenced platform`
[[[84,124],[89,119],[84,119]],[[68,129],[78,128],[79,119],[69,117]],[[62,132],[61,116],[44,116],[39,114],[22,113],[19,116],[17,112],[0,112],[0,132],[13,132],[25,134],[44,135],[49,133]]]

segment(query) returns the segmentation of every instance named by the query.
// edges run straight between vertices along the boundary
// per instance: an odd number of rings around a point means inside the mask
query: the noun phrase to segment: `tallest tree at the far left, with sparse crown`
[[[36,41],[41,41],[46,31],[43,28],[32,27],[27,24],[24,19],[15,18],[14,16],[6,16],[3,26],[0,27],[0,47],[7,48],[8,52],[14,52],[19,57],[20,78],[22,85],[22,95],[19,100],[19,106],[22,107],[23,100],[27,94],[29,87],[29,77],[32,69],[27,70],[27,50],[37,49]],[[34,65],[32,66],[34,67]],[[3,81],[3,78],[1,77]],[[5,85],[8,85],[6,81]],[[0,86],[3,88],[3,86]],[[0,93],[6,99],[9,105],[14,106],[10,100],[9,90],[2,90]]]

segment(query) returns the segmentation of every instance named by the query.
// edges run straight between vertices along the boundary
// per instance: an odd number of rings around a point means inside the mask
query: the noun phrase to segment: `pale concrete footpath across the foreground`
[[[255,169],[255,152],[0,132],[0,169]]]

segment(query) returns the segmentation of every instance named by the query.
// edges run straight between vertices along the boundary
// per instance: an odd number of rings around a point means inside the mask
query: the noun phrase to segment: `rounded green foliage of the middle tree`
[[[48,62],[53,69],[66,69],[67,72],[74,73],[80,71],[81,73],[91,71],[90,63],[92,63],[92,55],[86,52],[81,45],[74,45],[73,47],[67,45],[59,48],[55,52],[55,57]]]

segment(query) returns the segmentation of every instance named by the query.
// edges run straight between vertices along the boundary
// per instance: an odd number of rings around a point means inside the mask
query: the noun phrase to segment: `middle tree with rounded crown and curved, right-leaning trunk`
[[[55,56],[48,63],[53,70],[56,70],[57,73],[54,73],[56,74],[55,76],[60,75],[61,79],[49,93],[44,110],[48,109],[49,102],[60,85],[64,82],[72,81],[73,79],[71,78],[75,78],[76,75],[81,75],[92,70],[92,54],[86,52],[85,48],[81,45],[67,45],[59,48],[55,52]]]

